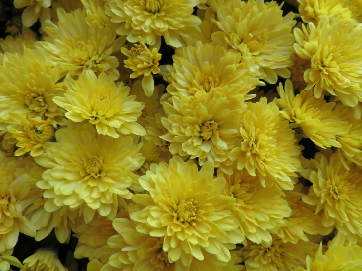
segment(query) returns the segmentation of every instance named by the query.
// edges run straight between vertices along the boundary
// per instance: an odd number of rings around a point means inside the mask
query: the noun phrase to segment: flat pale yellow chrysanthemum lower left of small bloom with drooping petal
[[[64,97],[53,100],[65,108],[68,119],[89,121],[98,134],[114,138],[119,134],[145,135],[145,129],[136,122],[145,105],[134,101],[136,96],[129,95],[129,87],[122,82],[115,84],[105,73],[97,77],[92,70],[87,70],[76,81],[66,78],[65,86]]]

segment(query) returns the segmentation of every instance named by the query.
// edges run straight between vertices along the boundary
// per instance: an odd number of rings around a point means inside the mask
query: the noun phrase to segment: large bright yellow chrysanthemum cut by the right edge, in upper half
[[[299,57],[311,60],[311,68],[304,73],[306,90],[314,89],[316,98],[325,90],[344,105],[356,106],[362,101],[361,28],[327,16],[320,19],[318,26],[308,26],[294,29],[295,51]]]

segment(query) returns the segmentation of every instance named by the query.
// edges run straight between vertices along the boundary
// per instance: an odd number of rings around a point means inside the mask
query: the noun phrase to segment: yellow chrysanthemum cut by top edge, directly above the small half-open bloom
[[[106,14],[118,25],[117,34],[137,42],[142,36],[146,44],[160,48],[161,36],[167,45],[182,46],[181,41],[201,34],[201,20],[193,7],[201,0],[110,0]]]

